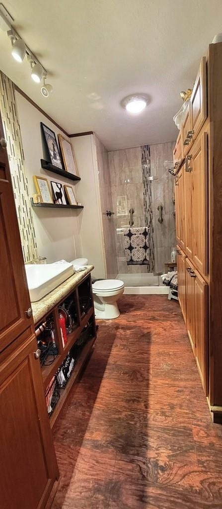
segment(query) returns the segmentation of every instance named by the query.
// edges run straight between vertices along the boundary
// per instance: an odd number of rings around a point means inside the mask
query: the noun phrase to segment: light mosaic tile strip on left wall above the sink
[[[36,235],[28,192],[22,139],[13,82],[0,72],[1,115],[15,196],[24,262],[37,258]]]

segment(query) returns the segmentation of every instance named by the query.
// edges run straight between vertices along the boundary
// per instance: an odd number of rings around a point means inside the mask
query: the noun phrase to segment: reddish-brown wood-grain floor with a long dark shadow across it
[[[221,509],[212,423],[179,305],[126,295],[54,429],[53,509]]]

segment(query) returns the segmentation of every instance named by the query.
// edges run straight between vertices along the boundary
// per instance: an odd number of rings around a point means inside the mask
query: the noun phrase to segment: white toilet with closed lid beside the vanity
[[[86,258],[78,258],[71,263],[74,265],[88,265]],[[119,279],[101,279],[92,284],[95,316],[104,320],[117,318],[119,308],[118,298],[124,292],[124,283]]]

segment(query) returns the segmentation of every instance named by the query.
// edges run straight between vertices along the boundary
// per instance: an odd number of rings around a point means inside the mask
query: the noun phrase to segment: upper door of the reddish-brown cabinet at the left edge
[[[0,138],[4,145],[0,116]],[[7,149],[0,145],[0,351],[25,329],[34,331],[33,320],[26,315],[30,299],[14,194],[11,183]]]

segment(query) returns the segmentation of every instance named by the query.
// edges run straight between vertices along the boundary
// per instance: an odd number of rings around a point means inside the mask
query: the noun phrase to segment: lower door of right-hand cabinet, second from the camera
[[[196,357],[196,338],[195,338],[195,278],[193,277],[193,268],[186,259],[186,328],[191,343],[192,350]]]

